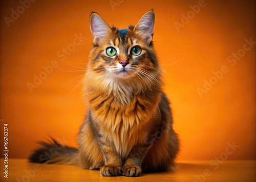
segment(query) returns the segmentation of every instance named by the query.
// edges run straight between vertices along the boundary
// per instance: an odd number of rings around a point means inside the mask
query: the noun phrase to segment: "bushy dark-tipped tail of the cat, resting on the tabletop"
[[[61,145],[56,140],[38,142],[41,147],[33,151],[29,162],[78,166],[78,149]]]

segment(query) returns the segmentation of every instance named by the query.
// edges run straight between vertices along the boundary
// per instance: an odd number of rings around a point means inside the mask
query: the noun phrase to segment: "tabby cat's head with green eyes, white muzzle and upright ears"
[[[153,48],[155,13],[145,13],[128,29],[110,26],[95,12],[91,13],[90,29],[93,47],[89,56],[91,76],[115,81],[155,82],[160,74]],[[103,80],[102,80],[103,81]]]

